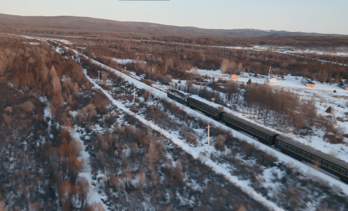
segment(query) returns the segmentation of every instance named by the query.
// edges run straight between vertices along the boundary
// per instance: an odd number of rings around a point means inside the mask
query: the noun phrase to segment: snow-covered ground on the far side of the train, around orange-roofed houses
[[[191,70],[194,72],[194,74],[202,75],[202,76],[208,76],[211,78],[211,80],[217,80],[218,78],[227,79],[227,80],[234,80],[230,79],[229,75],[224,75],[221,73],[220,70],[212,71],[212,70]],[[265,76],[259,76],[258,78],[249,76],[249,74],[244,73],[238,78],[239,83],[246,83],[249,79],[253,83],[265,83],[266,77]],[[345,91],[344,89],[338,87],[336,84],[330,85],[330,84],[321,84],[315,83],[315,87],[307,87],[301,83],[302,77],[296,77],[287,75],[283,79],[281,77],[277,77],[278,83],[270,85],[273,88],[284,88],[286,91],[290,91],[293,93],[296,93],[300,98],[311,100],[314,99],[316,107],[318,108],[317,113],[318,115],[325,116],[328,118],[334,118],[337,117],[340,120],[337,120],[337,126],[343,134],[348,134],[348,115],[345,114],[348,112],[348,91]],[[183,82],[183,81],[182,81]],[[336,90],[337,93],[334,93],[334,90]],[[200,101],[208,102],[205,99],[199,98],[198,96],[194,96],[194,98],[197,98]],[[216,107],[221,106],[214,104]],[[331,106],[334,109],[333,114],[326,113],[326,109]],[[230,110],[229,108],[224,108],[226,111],[234,113],[236,115],[239,115],[242,118],[248,119],[251,122],[258,124],[260,126],[266,127],[263,123],[263,121],[257,121],[253,118],[247,118],[248,116],[242,115],[241,110],[235,111]],[[331,116],[331,117],[330,117]],[[274,129],[272,129],[274,130]],[[279,132],[281,133],[281,132]],[[284,133],[283,133],[284,134]],[[292,138],[301,141],[304,144],[307,144],[311,147],[317,148],[318,150],[322,150],[325,153],[334,155],[338,158],[341,158],[343,160],[348,161],[348,139],[344,138],[345,144],[331,144],[325,140],[323,140],[324,131],[315,131],[314,136],[300,136],[300,135],[294,135],[294,134],[284,134],[287,136],[291,136]]]

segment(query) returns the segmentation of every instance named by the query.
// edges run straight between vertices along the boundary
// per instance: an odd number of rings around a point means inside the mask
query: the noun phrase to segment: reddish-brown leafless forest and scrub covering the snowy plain
[[[210,46],[341,47],[347,46],[346,37],[183,37],[23,25],[0,29],[42,37],[80,37],[66,38],[76,43],[61,43],[62,53],[57,53],[52,49],[59,46],[56,42],[41,40],[33,45],[30,42],[36,40],[0,35],[1,211],[92,211],[105,207],[110,210],[269,210],[158,131],[113,105],[82,70],[93,79],[101,71],[99,84],[113,99],[162,129],[177,131],[179,137],[193,146],[203,138],[193,130],[205,128],[206,123],[166,100],[153,97],[145,89],[136,90],[137,105],[130,105],[132,84],[64,46],[78,52],[83,49],[84,55],[125,74],[129,74],[125,68],[138,76],[145,74],[141,81],[149,85],[155,81],[168,85],[172,79],[186,80],[187,84],[180,87],[182,91],[206,99],[215,97],[217,103],[230,104],[231,108],[240,106],[247,114],[263,114],[265,123],[285,131],[307,134],[314,127],[321,128],[332,143],[342,143],[343,137],[348,136],[340,134],[331,119],[319,117],[311,100],[275,91],[267,84],[239,85],[224,80],[210,83],[210,91],[203,87],[208,78],[188,72],[198,68],[265,75],[271,66],[272,74],[341,83],[348,79],[348,67],[334,63],[348,64],[347,57]],[[113,58],[137,62],[120,65]],[[226,93],[226,98],[220,99],[218,93]],[[263,98],[257,98],[260,95]],[[276,99],[278,103],[272,103]],[[173,122],[173,117],[179,122]],[[252,188],[278,206],[304,210],[313,202],[313,210],[317,211],[338,211],[348,206],[347,197],[338,188],[306,178],[252,144],[234,138],[223,129],[213,129],[214,147],[220,154],[208,156],[233,166],[234,175],[250,181]],[[88,159],[84,154],[89,155]],[[270,191],[263,186],[266,182],[259,175],[266,167],[285,172],[274,180],[281,190]],[[91,189],[102,196],[101,202],[93,200]]]

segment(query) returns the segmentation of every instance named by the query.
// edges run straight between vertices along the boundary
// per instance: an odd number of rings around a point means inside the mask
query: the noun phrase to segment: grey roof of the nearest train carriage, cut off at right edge
[[[326,154],[326,153],[323,153],[321,152],[320,150],[317,150],[315,148],[312,148],[310,146],[307,146],[303,143],[300,143],[298,141],[295,141],[294,139],[292,138],[289,138],[289,137],[286,137],[286,136],[277,136],[277,139],[280,140],[280,141],[283,141],[284,143],[287,143],[287,144],[291,144],[305,152],[308,152],[312,155],[315,155],[316,157],[318,158],[321,158],[321,159],[324,159],[332,164],[336,164],[338,166],[341,166],[345,169],[348,169],[348,163],[345,162],[345,161],[342,161],[341,159],[338,159],[334,156],[331,156],[329,154]]]

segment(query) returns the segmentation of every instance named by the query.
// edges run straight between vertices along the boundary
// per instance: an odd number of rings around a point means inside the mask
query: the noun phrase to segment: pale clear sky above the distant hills
[[[1,0],[0,13],[348,35],[348,0]]]

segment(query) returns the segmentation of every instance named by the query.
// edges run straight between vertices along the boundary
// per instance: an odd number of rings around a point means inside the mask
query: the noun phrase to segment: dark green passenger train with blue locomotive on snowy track
[[[306,162],[318,170],[325,171],[325,173],[348,184],[348,163],[344,160],[323,153],[321,150],[314,149],[272,130],[250,123],[236,115],[191,98],[175,89],[169,89],[167,91],[167,97],[185,104],[194,110],[198,110],[222,124],[247,134],[264,144],[272,146],[288,156]]]

